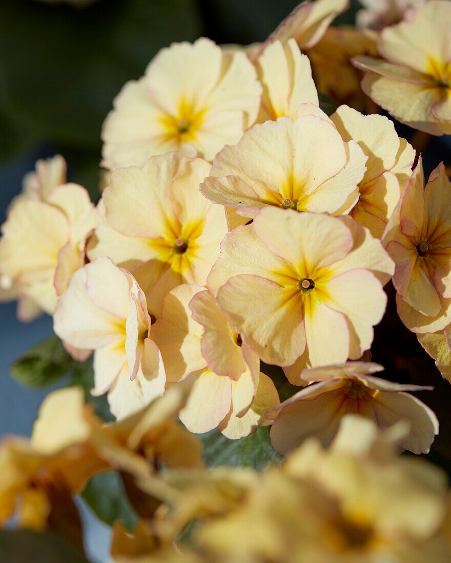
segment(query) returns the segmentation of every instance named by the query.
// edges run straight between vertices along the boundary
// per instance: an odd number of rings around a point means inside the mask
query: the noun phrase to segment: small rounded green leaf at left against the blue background
[[[23,385],[46,387],[68,373],[73,363],[58,336],[51,336],[25,352],[11,366],[11,374]]]

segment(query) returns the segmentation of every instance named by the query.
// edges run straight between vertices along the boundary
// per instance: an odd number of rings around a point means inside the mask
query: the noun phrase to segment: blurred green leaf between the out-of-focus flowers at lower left
[[[109,526],[119,520],[127,530],[134,530],[139,517],[132,508],[121,477],[116,471],[91,477],[81,495],[100,520]]]

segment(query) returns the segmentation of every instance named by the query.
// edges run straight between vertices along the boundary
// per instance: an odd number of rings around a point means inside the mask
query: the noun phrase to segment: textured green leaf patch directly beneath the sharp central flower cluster
[[[208,467],[247,466],[260,471],[284,459],[272,448],[268,426],[259,426],[254,434],[239,440],[229,440],[216,428],[199,437],[204,443],[204,461]]]

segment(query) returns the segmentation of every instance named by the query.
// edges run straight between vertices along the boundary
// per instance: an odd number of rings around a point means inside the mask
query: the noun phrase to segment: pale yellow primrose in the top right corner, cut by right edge
[[[451,4],[431,0],[409,21],[381,33],[385,60],[356,57],[365,70],[362,90],[401,123],[431,133],[451,134]]]

